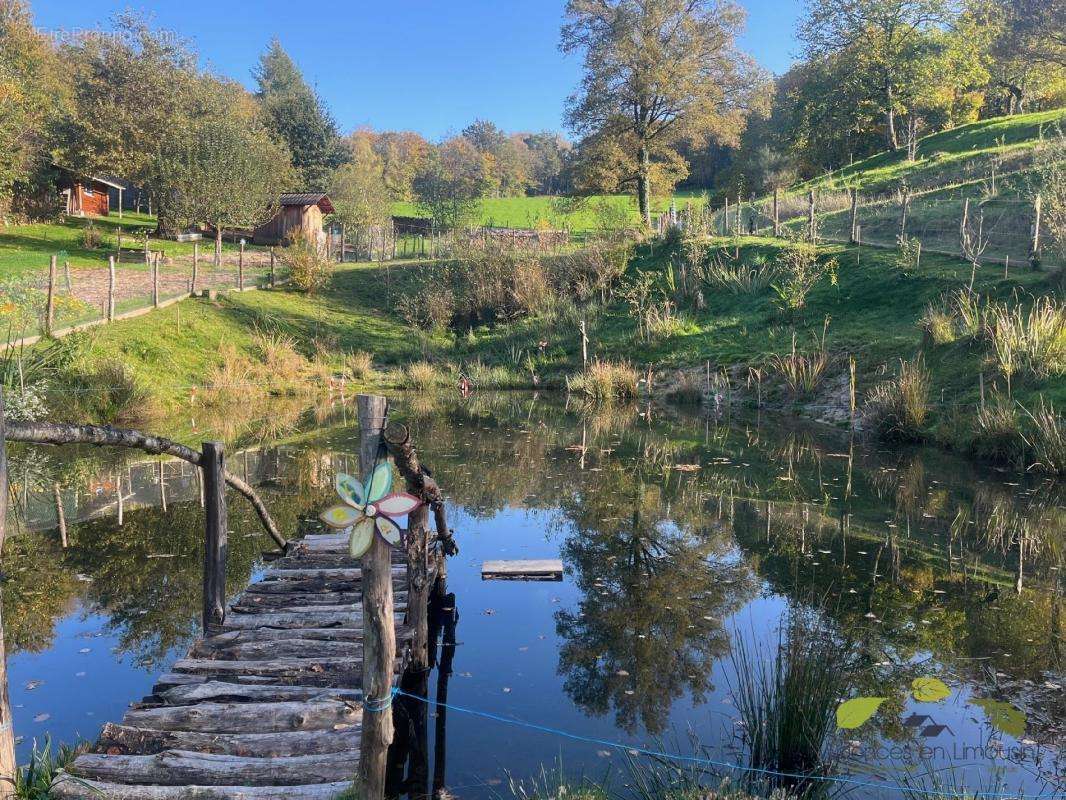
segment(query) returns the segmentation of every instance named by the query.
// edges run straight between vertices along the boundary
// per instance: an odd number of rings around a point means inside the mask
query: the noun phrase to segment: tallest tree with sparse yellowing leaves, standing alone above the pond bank
[[[732,139],[748,66],[736,38],[743,12],[729,0],[568,0],[561,47],[582,52],[584,77],[567,122],[629,155],[645,224],[656,158],[674,144]]]

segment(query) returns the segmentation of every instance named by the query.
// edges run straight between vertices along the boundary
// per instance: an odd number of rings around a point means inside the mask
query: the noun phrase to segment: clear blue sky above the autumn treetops
[[[106,26],[132,7],[189,37],[205,64],[254,85],[277,35],[343,131],[416,130],[430,139],[477,117],[505,130],[562,129],[580,62],[559,52],[565,0],[31,0],[48,30]],[[788,68],[801,0],[741,0],[744,48]]]

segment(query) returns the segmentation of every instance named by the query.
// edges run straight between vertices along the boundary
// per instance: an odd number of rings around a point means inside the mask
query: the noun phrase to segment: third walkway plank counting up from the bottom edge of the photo
[[[286,731],[269,734],[216,734],[196,731],[155,731],[109,722],[94,750],[108,755],[154,755],[165,750],[275,758],[354,750],[359,729],[340,731]]]

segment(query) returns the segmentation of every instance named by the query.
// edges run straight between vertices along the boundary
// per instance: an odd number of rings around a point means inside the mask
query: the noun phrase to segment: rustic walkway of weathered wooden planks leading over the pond
[[[307,537],[273,562],[231,604],[223,633],[196,641],[122,723],[109,722],[52,796],[328,800],[348,789],[362,720],[362,594],[346,542]],[[401,642],[405,563],[393,555]]]

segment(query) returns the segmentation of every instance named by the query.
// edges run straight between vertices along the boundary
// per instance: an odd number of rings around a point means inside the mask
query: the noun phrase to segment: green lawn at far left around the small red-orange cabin
[[[83,231],[92,222],[100,234],[100,246],[87,250],[83,245]],[[39,273],[48,270],[48,259],[59,254],[62,260],[70,262],[71,267],[106,267],[108,256],[114,252],[117,242],[117,231],[123,231],[123,263],[128,267],[144,267],[144,261],[134,254],[127,254],[127,249],[143,246],[145,230],[154,230],[156,219],[147,214],[131,211],[109,217],[91,219],[66,218],[55,223],[33,223],[29,225],[0,226],[0,279],[29,273]],[[176,242],[171,239],[149,238],[152,250],[162,250],[167,256],[191,256],[192,242]],[[213,249],[210,241],[200,242],[200,251],[205,254]],[[235,253],[236,244],[223,245],[225,252]],[[209,257],[209,256],[206,256]]]

